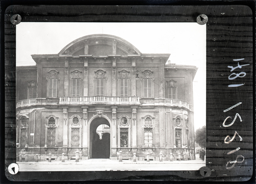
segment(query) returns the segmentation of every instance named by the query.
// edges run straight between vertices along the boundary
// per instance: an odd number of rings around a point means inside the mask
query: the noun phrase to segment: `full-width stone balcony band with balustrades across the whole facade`
[[[59,102],[58,102],[59,101]],[[166,106],[184,107],[189,109],[189,103],[183,100],[166,98],[140,98],[139,96],[60,96],[59,99],[35,98],[16,102],[16,108],[34,105],[140,105],[143,106]]]

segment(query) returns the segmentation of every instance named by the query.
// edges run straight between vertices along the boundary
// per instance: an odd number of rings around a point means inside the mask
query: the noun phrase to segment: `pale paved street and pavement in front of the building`
[[[109,170],[199,170],[205,166],[205,161],[199,159],[196,155],[196,160],[187,161],[136,161],[110,159],[89,159],[61,161],[40,161],[36,162],[22,162],[19,163],[19,171],[109,171]]]

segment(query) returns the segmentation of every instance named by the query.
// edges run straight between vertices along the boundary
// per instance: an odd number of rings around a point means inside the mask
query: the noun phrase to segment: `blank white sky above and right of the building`
[[[16,66],[35,65],[32,54],[57,54],[77,38],[102,33],[121,37],[142,53],[170,53],[172,63],[198,67],[195,130],[206,124],[206,24],[22,22],[16,25]]]

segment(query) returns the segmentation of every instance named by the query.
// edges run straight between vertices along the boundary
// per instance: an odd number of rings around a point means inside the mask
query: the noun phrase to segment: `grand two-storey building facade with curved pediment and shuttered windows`
[[[17,155],[194,159],[195,66],[104,34],[31,56],[36,66],[16,69]]]

